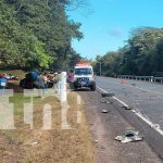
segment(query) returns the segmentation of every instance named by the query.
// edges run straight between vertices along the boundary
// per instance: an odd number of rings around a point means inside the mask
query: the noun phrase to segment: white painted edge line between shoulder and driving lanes
[[[106,93],[108,91],[105,91],[104,89],[100,88],[99,86],[97,86],[98,89],[100,89],[101,91],[103,91],[104,93]],[[128,104],[126,104],[125,102],[123,102],[122,100],[117,99],[116,97],[112,97],[113,99],[115,99],[116,101],[118,101],[121,104],[123,104],[124,106],[128,106]],[[154,130],[156,130],[160,135],[163,136],[163,130],[160,128],[160,125],[158,124],[153,124],[151,121],[149,121],[147,117],[145,117],[140,111],[136,111],[136,110],[131,110],[133,113],[135,113],[139,118],[141,118],[143,122],[146,122],[151,128],[153,128]]]

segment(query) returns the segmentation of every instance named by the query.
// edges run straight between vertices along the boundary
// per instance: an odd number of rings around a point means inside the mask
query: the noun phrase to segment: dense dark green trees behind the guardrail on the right
[[[95,70],[103,75],[163,75],[163,28],[143,27],[131,32],[125,47],[98,55]]]

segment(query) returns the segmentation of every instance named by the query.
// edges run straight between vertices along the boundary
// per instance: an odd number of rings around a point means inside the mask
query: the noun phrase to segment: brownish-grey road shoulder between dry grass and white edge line
[[[163,137],[155,134],[131,111],[121,108],[113,98],[102,98],[101,90],[78,91],[84,100],[90,131],[99,163],[161,163]],[[108,113],[102,113],[106,110]],[[127,129],[140,131],[143,141],[121,143],[115,140]],[[148,143],[149,142],[149,143]],[[152,145],[151,147],[149,145]],[[155,152],[154,152],[155,151]],[[159,154],[159,156],[158,156]]]

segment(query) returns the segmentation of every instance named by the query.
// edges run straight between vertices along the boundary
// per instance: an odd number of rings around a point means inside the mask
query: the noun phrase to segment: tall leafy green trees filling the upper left
[[[74,58],[72,39],[80,24],[68,20],[67,0],[1,0],[0,66],[65,67]]]

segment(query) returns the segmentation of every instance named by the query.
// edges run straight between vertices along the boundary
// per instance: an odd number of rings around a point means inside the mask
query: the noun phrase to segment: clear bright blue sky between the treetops
[[[85,9],[68,12],[82,23],[84,39],[73,40],[73,48],[83,57],[95,59],[118,50],[130,30],[142,26],[163,27],[163,0],[88,0]]]

